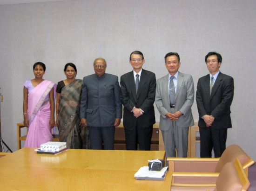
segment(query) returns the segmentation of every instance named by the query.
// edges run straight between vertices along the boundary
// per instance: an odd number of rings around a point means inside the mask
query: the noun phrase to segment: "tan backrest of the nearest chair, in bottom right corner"
[[[215,191],[247,191],[250,183],[239,159],[223,166],[216,180]]]

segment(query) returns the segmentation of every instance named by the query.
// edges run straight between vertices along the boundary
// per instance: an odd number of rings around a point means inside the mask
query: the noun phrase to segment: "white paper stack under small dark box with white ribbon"
[[[137,180],[164,180],[168,167],[163,167],[161,171],[149,171],[148,166],[143,166],[135,173]]]

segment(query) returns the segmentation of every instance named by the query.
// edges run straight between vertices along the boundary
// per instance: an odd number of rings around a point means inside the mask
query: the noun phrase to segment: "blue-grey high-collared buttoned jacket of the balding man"
[[[89,127],[114,126],[115,118],[122,117],[118,77],[96,74],[83,78],[80,118],[86,118]]]

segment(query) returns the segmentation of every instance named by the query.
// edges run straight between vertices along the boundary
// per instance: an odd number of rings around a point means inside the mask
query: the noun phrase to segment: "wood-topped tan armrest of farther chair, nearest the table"
[[[171,172],[215,172],[219,158],[167,158]]]

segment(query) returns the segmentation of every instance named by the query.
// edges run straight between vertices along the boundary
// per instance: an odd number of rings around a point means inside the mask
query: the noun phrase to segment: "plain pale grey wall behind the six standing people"
[[[33,64],[46,64],[45,79],[65,79],[64,65],[73,62],[77,78],[94,73],[96,57],[107,72],[132,70],[132,51],[142,51],[143,66],[156,78],[167,74],[164,55],[176,51],[180,71],[208,74],[204,56],[222,54],[221,71],[235,79],[231,106],[233,128],[227,145],[238,144],[256,160],[254,97],[256,73],[255,0],[70,0],[0,5],[0,88],[2,138],[17,149],[16,123],[23,121],[23,83],[33,79]],[[196,103],[192,107],[198,121]],[[155,109],[156,120],[159,113]]]

